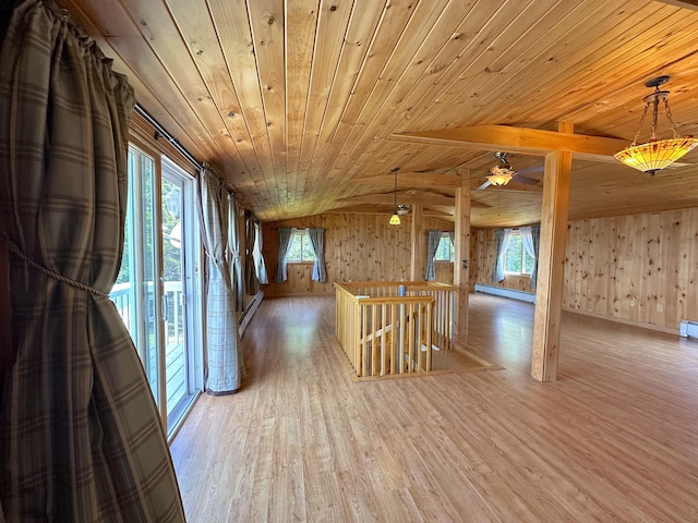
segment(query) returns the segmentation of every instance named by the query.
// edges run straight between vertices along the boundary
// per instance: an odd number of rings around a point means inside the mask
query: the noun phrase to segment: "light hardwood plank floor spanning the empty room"
[[[334,299],[265,300],[243,388],[172,442],[188,521],[698,521],[698,342],[566,313],[540,384],[532,317],[471,295],[503,369],[352,382]]]

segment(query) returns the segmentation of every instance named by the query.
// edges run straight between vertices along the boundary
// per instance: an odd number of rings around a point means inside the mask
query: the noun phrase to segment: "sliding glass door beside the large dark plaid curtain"
[[[171,433],[201,390],[201,251],[193,180],[131,146],[129,204],[113,300]]]

